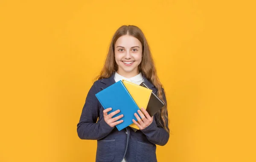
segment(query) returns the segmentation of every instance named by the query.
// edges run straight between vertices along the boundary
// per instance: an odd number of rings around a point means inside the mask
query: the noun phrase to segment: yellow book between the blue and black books
[[[125,88],[130,93],[131,97],[136,102],[137,106],[141,109],[142,107],[146,110],[148,106],[148,101],[151,96],[152,90],[132,83],[130,81],[122,80],[122,83],[125,85]],[[137,113],[138,114],[138,113]],[[129,125],[135,129],[140,129],[136,124]]]

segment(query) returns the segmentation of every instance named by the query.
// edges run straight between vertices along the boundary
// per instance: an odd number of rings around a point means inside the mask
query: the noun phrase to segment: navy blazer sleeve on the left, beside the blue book
[[[103,119],[97,122],[100,108],[100,103],[95,96],[97,90],[96,82],[94,82],[87,94],[80,120],[77,124],[77,133],[80,139],[99,140],[111,133],[114,128],[105,122],[103,115],[100,116]]]

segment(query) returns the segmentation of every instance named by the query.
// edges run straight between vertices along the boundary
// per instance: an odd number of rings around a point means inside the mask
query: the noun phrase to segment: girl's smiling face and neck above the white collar
[[[115,60],[118,65],[118,74],[126,78],[137,75],[139,73],[138,66],[142,60],[140,40],[131,35],[119,37],[115,44]]]

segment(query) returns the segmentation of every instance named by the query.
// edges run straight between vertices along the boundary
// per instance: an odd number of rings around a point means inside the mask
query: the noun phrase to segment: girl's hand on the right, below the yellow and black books
[[[134,122],[134,124],[136,124],[140,130],[143,130],[145,127],[148,127],[148,125],[150,125],[152,122],[153,122],[153,117],[150,117],[150,115],[148,114],[148,112],[144,109],[144,108],[141,108],[141,110],[143,111],[143,113],[138,110],[138,113],[140,114],[141,116],[141,119],[140,117],[137,115],[137,113],[134,113],[134,116],[137,118],[138,122],[136,122],[134,119],[132,119],[132,121]]]

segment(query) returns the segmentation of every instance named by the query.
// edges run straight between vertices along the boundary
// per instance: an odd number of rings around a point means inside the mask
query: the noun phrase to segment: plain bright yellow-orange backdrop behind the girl
[[[167,95],[159,162],[256,162],[255,1],[1,0],[0,162],[93,162],[76,133],[121,25],[139,26]]]

